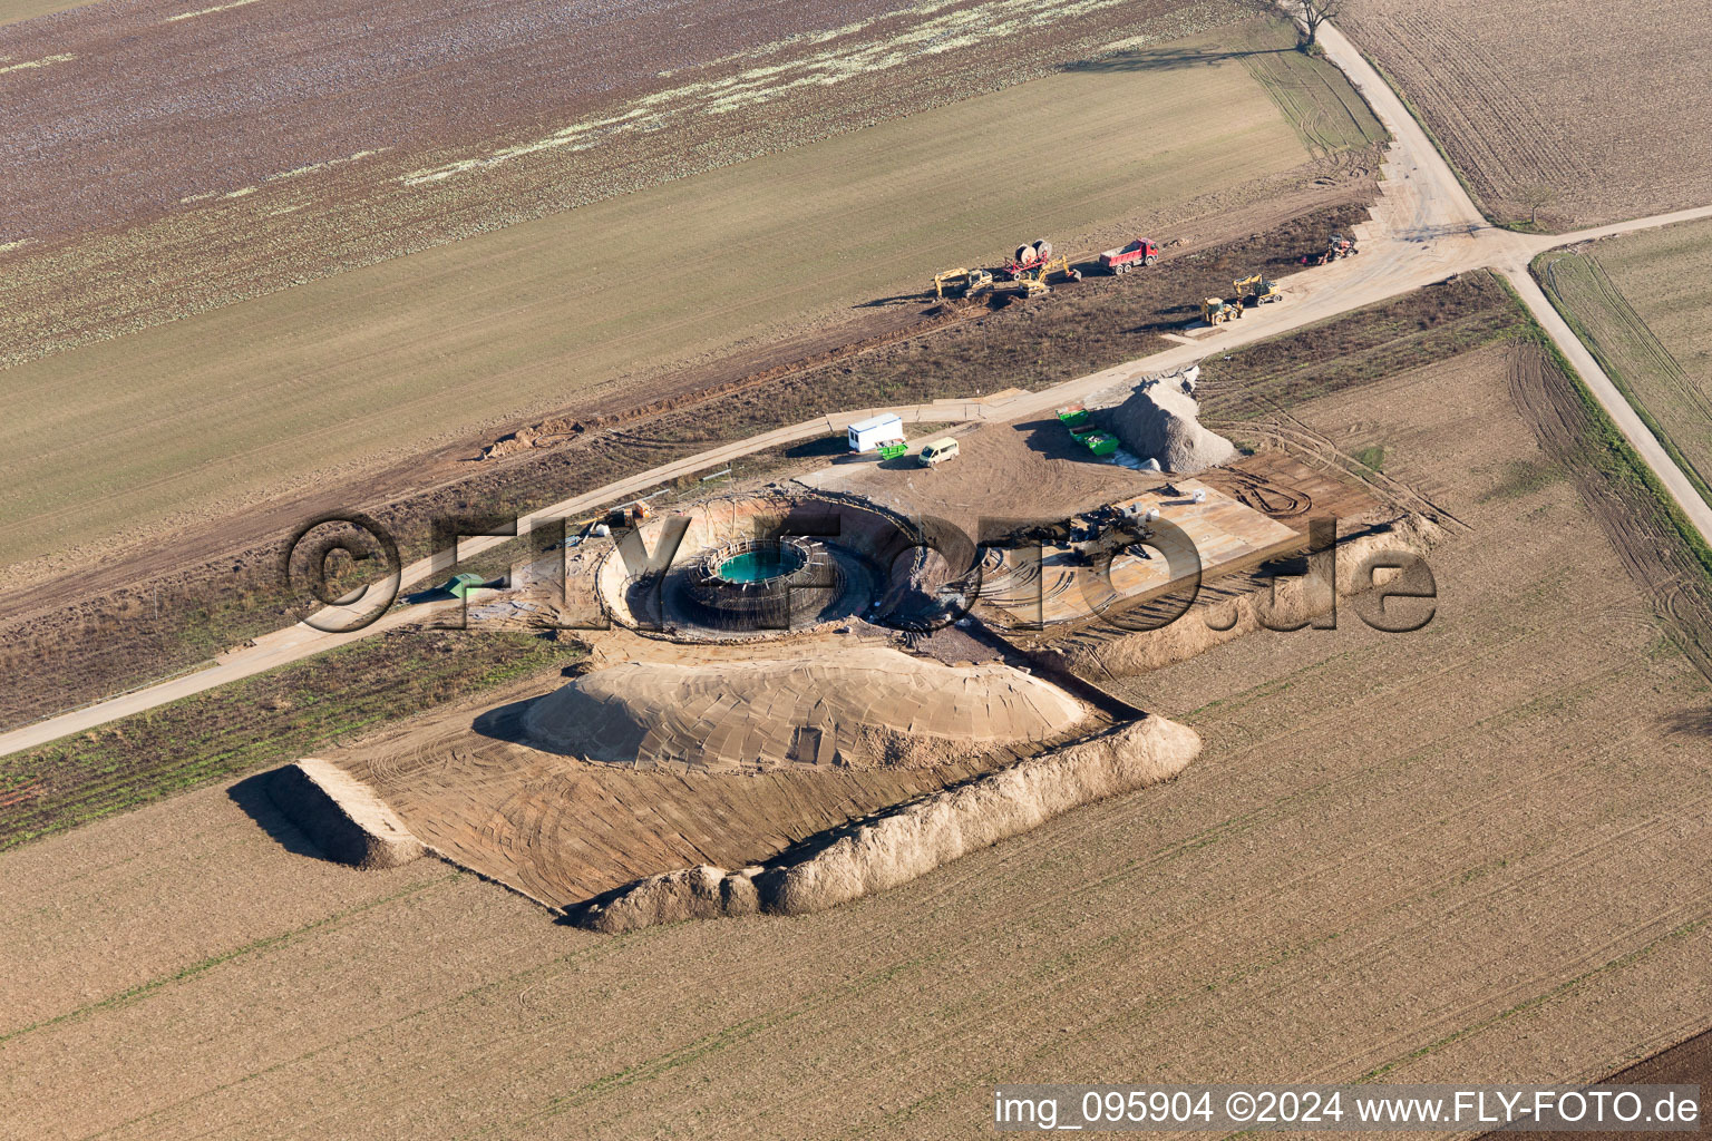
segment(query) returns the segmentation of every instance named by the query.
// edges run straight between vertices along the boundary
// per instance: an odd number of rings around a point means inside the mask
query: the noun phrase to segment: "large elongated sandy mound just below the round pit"
[[[933,765],[1046,741],[1082,713],[1063,689],[1008,665],[950,667],[870,647],[627,662],[541,698],[526,730],[556,753],[640,766]]]

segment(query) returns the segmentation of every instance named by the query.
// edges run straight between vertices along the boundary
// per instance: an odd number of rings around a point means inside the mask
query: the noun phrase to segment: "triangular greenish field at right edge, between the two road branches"
[[[1558,250],[1534,270],[1647,426],[1712,501],[1712,224]]]

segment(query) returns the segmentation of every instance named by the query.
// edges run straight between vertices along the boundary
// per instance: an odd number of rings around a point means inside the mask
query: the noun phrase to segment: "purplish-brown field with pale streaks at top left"
[[[99,5],[0,31],[26,359],[1051,74],[1229,0]],[[99,82],[96,82],[99,80]],[[91,101],[89,92],[96,98]],[[197,91],[193,106],[173,92]],[[46,133],[29,123],[53,123]],[[159,156],[173,156],[163,163]],[[99,180],[82,171],[101,171]],[[580,251],[587,257],[591,251]],[[577,257],[577,255],[572,255]],[[146,270],[146,272],[137,272]]]

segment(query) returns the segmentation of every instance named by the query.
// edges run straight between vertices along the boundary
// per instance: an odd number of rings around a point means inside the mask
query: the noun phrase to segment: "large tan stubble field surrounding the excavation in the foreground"
[[[981,1136],[1010,1079],[1580,1081],[1688,1037],[1712,683],[1661,588],[1693,561],[1498,306],[1464,296],[1436,361],[1392,310],[1209,371],[1311,462],[1383,448],[1447,527],[1424,630],[1344,614],[1121,681],[1202,734],[1176,780],[818,915],[620,937],[192,792],[0,854],[7,1129]]]

